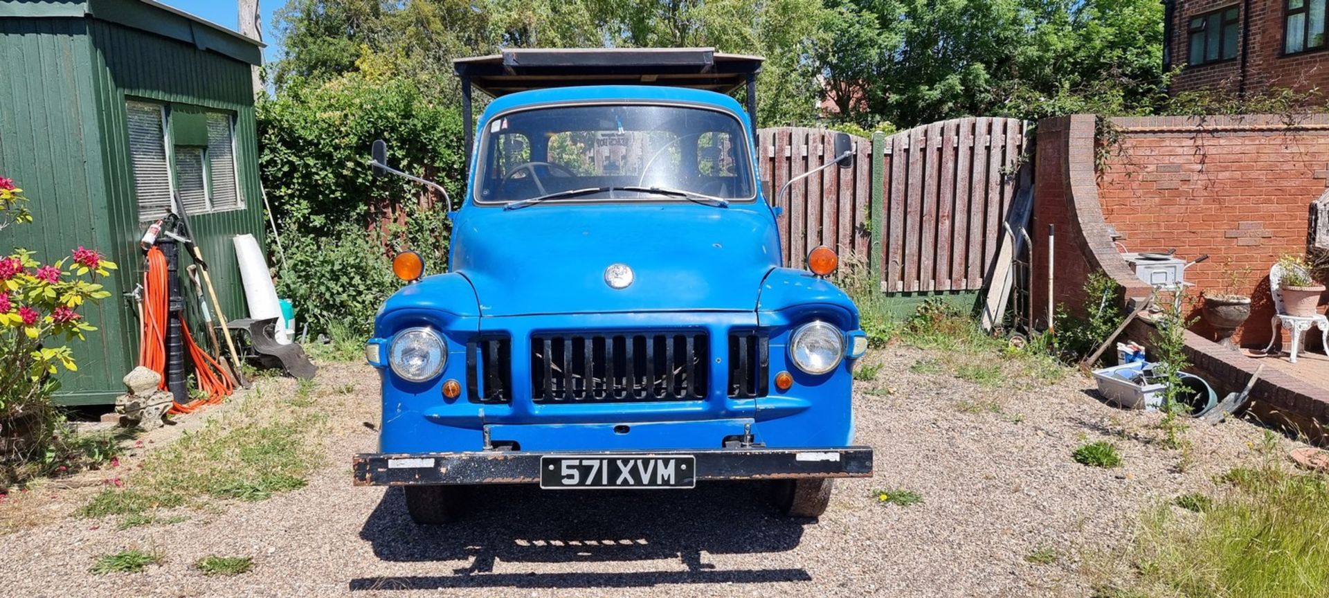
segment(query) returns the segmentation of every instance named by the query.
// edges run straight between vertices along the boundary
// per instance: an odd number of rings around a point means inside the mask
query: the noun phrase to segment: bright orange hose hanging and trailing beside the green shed
[[[166,322],[169,318],[166,256],[161,249],[148,250],[148,268],[144,272],[144,334],[138,347],[138,363],[161,376],[158,388],[166,388]],[[231,395],[235,387],[222,375],[222,365],[209,356],[194,335],[189,332],[185,315],[179,315],[181,332],[185,335],[185,346],[189,347],[189,359],[194,363],[194,377],[198,388],[207,396],[181,404],[173,401],[171,413],[190,413],[199,407],[221,403]]]

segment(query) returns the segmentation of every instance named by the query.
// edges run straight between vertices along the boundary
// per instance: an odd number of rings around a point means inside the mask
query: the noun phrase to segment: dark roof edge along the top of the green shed
[[[242,62],[263,62],[262,41],[157,0],[0,0],[0,19],[85,16],[185,41]]]

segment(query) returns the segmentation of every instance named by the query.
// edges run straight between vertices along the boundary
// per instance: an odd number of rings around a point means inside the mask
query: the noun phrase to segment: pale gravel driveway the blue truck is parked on
[[[320,388],[358,392],[316,393],[335,432],[330,465],[306,488],[122,532],[114,520],[66,516],[88,489],[32,490],[44,496],[0,504],[49,520],[3,538],[0,594],[1080,597],[1091,593],[1092,562],[1111,561],[1128,542],[1143,508],[1211,489],[1215,474],[1256,458],[1263,436],[1245,421],[1196,425],[1187,433],[1193,454],[1183,458],[1152,441],[1152,416],[1104,407],[1079,375],[979,387],[917,365],[926,359],[904,347],[869,355],[884,369],[857,383],[855,399],[857,441],[876,449],[876,477],[841,480],[820,521],[775,517],[754,484],[621,493],[496,486],[480,493],[476,514],[436,529],[411,524],[399,490],[351,486],[350,456],[375,448],[363,423],[377,420],[376,377],[364,365],[326,367]],[[1104,439],[1123,466],[1070,458]],[[914,490],[924,502],[878,504],[877,488]],[[159,549],[165,563],[88,573],[97,555],[130,546]],[[1035,550],[1055,559],[1031,562]],[[203,577],[191,563],[210,554],[250,555],[255,566]]]

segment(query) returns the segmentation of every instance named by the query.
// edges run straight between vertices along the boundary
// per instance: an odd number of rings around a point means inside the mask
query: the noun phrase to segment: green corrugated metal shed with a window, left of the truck
[[[121,264],[108,283],[114,295],[84,310],[101,330],[76,343],[80,368],[61,373],[61,403],[110,403],[137,361],[138,319],[122,294],[142,280],[138,238],[148,222],[138,214],[126,100],[167,106],[163,114],[233,118],[242,207],[190,221],[225,314],[247,315],[231,238],[249,233],[264,243],[250,76],[259,61],[256,41],[155,1],[0,0],[0,177],[24,189],[36,219],[0,233],[0,251],[27,247],[54,260],[85,245]]]

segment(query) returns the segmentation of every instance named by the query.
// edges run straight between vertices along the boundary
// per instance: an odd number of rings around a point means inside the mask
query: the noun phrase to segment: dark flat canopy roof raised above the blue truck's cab
[[[464,85],[498,97],[569,85],[670,85],[730,93],[762,70],[762,60],[714,48],[532,48],[452,64]]]

